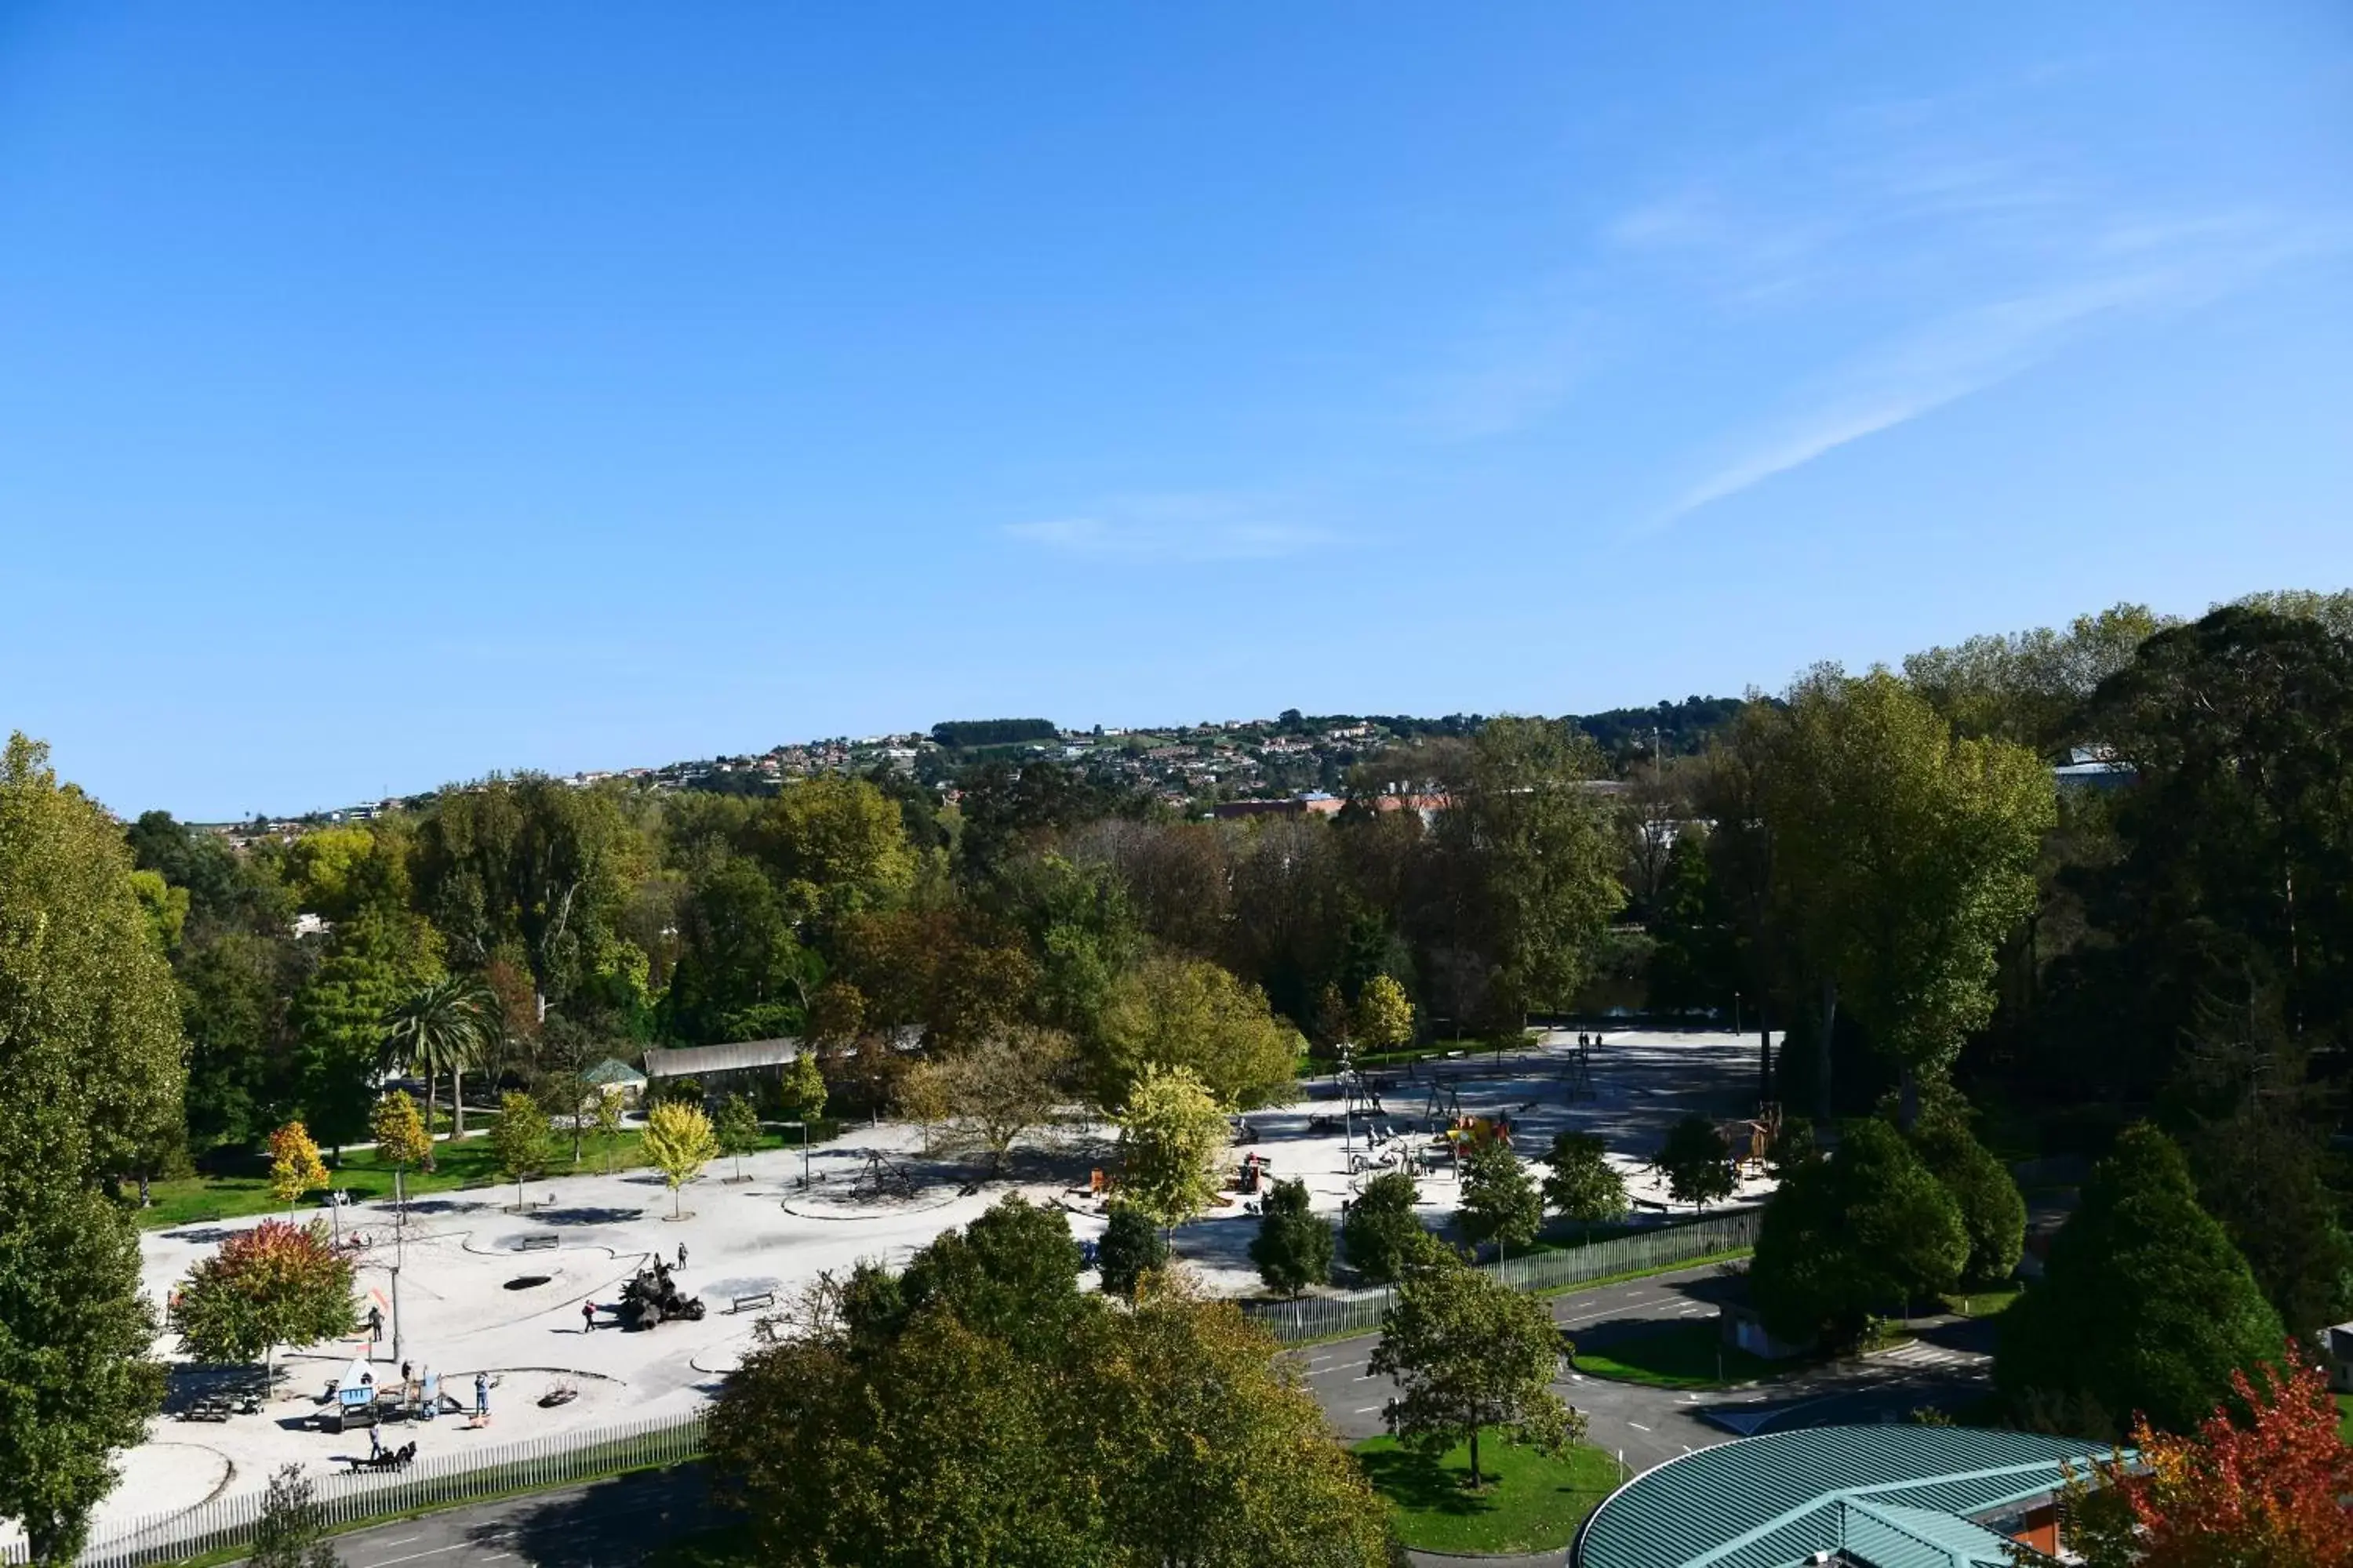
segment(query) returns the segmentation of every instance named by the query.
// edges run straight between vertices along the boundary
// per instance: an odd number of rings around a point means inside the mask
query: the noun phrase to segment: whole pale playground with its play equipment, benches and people
[[[1231,1175],[1242,1185],[1242,1161],[1254,1157],[1261,1182],[1306,1180],[1315,1208],[1337,1220],[1369,1175],[1419,1161],[1426,1220],[1445,1225],[1454,1171],[1435,1128],[1508,1124],[1525,1159],[1555,1131],[1577,1128],[1607,1140],[1638,1213],[1664,1215],[1666,1194],[1642,1166],[1689,1112],[1722,1121],[1758,1112],[1755,1037],[1609,1032],[1581,1051],[1574,1032],[1551,1032],[1504,1056],[1433,1058],[1362,1081],[1315,1077],[1294,1105],[1245,1119]],[[520,1211],[513,1185],[412,1201],[405,1222],[391,1204],[344,1208],[360,1314],[374,1309],[381,1335],[369,1340],[362,1326],[339,1342],[280,1349],[268,1389],[254,1373],[174,1363],[169,1403],[148,1443],[125,1455],[125,1483],[101,1507],[92,1540],[115,1540],[139,1516],[259,1490],[287,1462],[332,1488],[379,1448],[414,1443],[419,1460],[442,1460],[689,1415],[753,1345],[760,1319],[821,1272],[859,1260],[904,1265],[1007,1192],[1061,1204],[1075,1237],[1099,1237],[1094,1173],[1115,1171],[1113,1140],[1101,1121],[1054,1128],[1016,1150],[1009,1180],[981,1182],[976,1166],[927,1159],[913,1126],[849,1126],[807,1154],[807,1187],[800,1150],[753,1154],[744,1182],[725,1180],[732,1164],[694,1180],[682,1192],[687,1218],[675,1222],[671,1194],[649,1171],[534,1180]],[[1741,1194],[1762,1187],[1751,1173]],[[1257,1199],[1221,1197],[1176,1229],[1176,1255],[1207,1288],[1252,1295]],[[148,1232],[144,1286],[158,1307],[191,1265],[249,1222]],[[174,1342],[160,1340],[158,1354],[172,1359]],[[475,1418],[478,1378],[487,1418]],[[428,1380],[435,1399],[424,1399]],[[360,1403],[372,1422],[339,1420]]]

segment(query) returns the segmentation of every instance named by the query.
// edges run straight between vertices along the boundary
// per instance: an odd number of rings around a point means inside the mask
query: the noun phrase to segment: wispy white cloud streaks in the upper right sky
[[[2042,78],[1866,103],[1687,172],[1598,254],[1786,367],[1708,440],[1661,527],[1988,390],[2113,322],[2195,308],[2341,254],[2346,219],[2118,200],[2066,143],[2014,136]],[[1657,306],[1652,306],[1657,308]],[[1737,341],[1737,339],[1734,339]],[[1812,362],[1807,346],[1821,343]]]

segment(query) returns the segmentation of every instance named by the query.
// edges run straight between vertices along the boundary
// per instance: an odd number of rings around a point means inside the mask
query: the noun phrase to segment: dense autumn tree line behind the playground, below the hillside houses
[[[198,1157],[294,1114],[322,1145],[365,1138],[381,1072],[431,1070],[431,1030],[395,1030],[419,999],[480,1016],[449,1072],[480,1093],[645,1044],[807,1037],[864,1110],[915,1060],[1042,1041],[1054,1088],[1106,1110],[1144,1065],[1247,1110],[1287,1098],[1304,1037],[1346,1032],[1377,980],[1369,1027],[1395,1039],[1567,1006],[1621,900],[1572,726],[1492,719],[1395,762],[1435,809],[1367,788],[1337,823],[1195,823],[991,759],[948,790],[520,776],[292,844],[233,851],[162,813],[125,837],[179,983]],[[859,1051],[878,1039],[920,1053]]]

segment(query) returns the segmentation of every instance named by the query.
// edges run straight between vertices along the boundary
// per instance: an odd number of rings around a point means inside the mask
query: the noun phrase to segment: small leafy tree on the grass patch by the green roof
[[[1584,1415],[1551,1389],[1562,1354],[1544,1302],[1433,1253],[1381,1314],[1381,1342],[1365,1371],[1398,1380],[1402,1394],[1388,1403],[1388,1425],[1409,1448],[1435,1455],[1471,1443],[1478,1488],[1480,1434],[1489,1427],[1541,1453],[1584,1441]]]

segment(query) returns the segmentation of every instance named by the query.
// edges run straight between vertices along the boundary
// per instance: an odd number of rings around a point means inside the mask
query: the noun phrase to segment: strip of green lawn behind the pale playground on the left
[[[433,1147],[433,1171],[409,1171],[407,1185],[412,1199],[466,1187],[496,1187],[508,1180],[499,1173],[499,1154],[489,1147],[489,1138],[473,1128],[473,1112],[468,1112],[466,1121],[464,1140],[447,1140]],[[809,1143],[826,1143],[835,1131],[835,1124],[819,1121],[809,1128]],[[642,1140],[645,1135],[638,1128],[614,1133],[609,1143],[598,1133],[586,1133],[581,1138],[581,1161],[572,1164],[572,1133],[560,1131],[555,1138],[555,1164],[546,1173],[534,1175],[532,1182],[546,1185],[560,1182],[567,1175],[600,1175],[607,1168],[642,1168],[647,1164]],[[800,1133],[769,1131],[762,1138],[762,1147],[798,1150]],[[734,1161],[715,1159],[706,1166],[706,1175],[734,1175]],[[341,1166],[327,1164],[327,1182],[348,1190],[360,1201],[388,1199],[393,1197],[393,1166],[379,1159],[374,1147],[348,1150]],[[153,1182],[151,1197],[155,1206],[139,1211],[144,1229],[285,1213],[285,1204],[271,1197],[268,1159],[259,1154],[219,1173]],[[320,1192],[306,1194],[294,1206],[296,1218],[318,1215],[320,1197]]]

